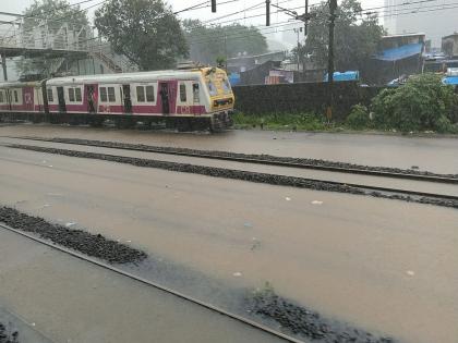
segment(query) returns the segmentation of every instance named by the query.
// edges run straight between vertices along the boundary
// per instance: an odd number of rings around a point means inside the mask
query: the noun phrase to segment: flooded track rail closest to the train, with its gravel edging
[[[316,159],[277,157],[272,155],[246,155],[227,151],[213,150],[195,150],[188,148],[160,147],[142,144],[128,144],[105,140],[88,140],[79,138],[39,138],[39,137],[20,137],[20,136],[1,136],[4,138],[24,139],[32,142],[61,143],[79,146],[114,148],[121,150],[156,152],[161,155],[183,156],[193,158],[204,158],[212,160],[224,160],[239,163],[265,164],[282,168],[310,169],[327,172],[337,172],[346,174],[359,174],[377,177],[403,179],[422,182],[434,182],[445,184],[458,184],[458,174],[438,174],[427,171],[419,171],[414,169],[397,169],[387,167],[369,167],[345,162],[334,162]]]

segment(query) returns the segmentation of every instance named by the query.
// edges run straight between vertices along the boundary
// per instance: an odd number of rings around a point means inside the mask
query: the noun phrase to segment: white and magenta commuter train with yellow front
[[[0,121],[117,127],[165,124],[184,131],[232,125],[234,96],[218,68],[0,83]]]

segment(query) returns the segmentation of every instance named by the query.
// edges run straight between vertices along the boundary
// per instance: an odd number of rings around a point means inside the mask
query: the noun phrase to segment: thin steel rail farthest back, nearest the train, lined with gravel
[[[169,148],[169,147],[165,147],[167,150],[164,150],[164,147],[155,147],[155,146],[136,147],[129,143],[121,143],[123,146],[117,147],[117,146],[111,145],[111,144],[117,144],[117,143],[77,142],[79,138],[59,139],[59,138],[36,138],[36,137],[15,137],[15,136],[0,136],[0,137],[24,139],[24,140],[47,142],[47,143],[59,143],[59,144],[69,144],[69,145],[81,145],[81,146],[110,148],[110,149],[129,150],[129,151],[184,156],[184,157],[193,157],[193,158],[205,158],[205,159],[213,159],[213,160],[232,161],[232,162],[239,162],[239,163],[253,163],[253,164],[265,164],[265,166],[285,167],[285,168],[312,169],[312,170],[321,170],[321,171],[329,171],[329,172],[339,172],[339,173],[346,173],[346,174],[360,174],[360,175],[388,177],[388,179],[405,179],[405,180],[414,180],[414,181],[433,182],[433,183],[458,184],[458,177],[412,174],[412,173],[395,173],[395,172],[388,172],[388,171],[382,171],[382,170],[376,171],[376,170],[367,170],[367,169],[335,167],[335,166],[287,162],[287,161],[275,160],[276,158],[275,156],[273,156],[274,159],[268,160],[268,159],[260,159],[260,158],[253,158],[253,157],[225,156],[226,154],[228,155],[233,154],[233,152],[227,152],[227,151],[212,151],[213,154],[208,154],[203,150],[200,150],[198,152],[197,151],[192,152],[192,151],[180,151],[179,150],[180,148],[177,149],[177,148]],[[74,139],[74,142],[72,142],[72,139]],[[83,139],[83,140],[86,140],[86,139]],[[221,155],[218,155],[218,154],[221,154]],[[236,154],[239,154],[239,152],[236,152]]]

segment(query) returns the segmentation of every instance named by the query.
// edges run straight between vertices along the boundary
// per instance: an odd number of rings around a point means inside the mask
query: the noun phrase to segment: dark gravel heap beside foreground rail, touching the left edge
[[[100,234],[50,223],[43,218],[28,216],[10,207],[0,207],[0,222],[109,264],[135,264],[147,257],[144,252],[108,240]]]

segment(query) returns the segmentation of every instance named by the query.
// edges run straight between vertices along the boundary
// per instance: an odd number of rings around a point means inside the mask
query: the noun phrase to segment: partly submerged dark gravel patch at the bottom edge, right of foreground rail
[[[280,330],[312,341],[326,343],[396,343],[391,338],[381,336],[365,330],[323,318],[318,313],[298,306],[273,290],[254,294],[250,311],[276,322]]]

